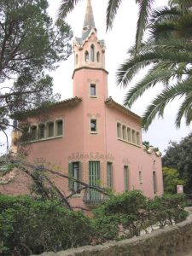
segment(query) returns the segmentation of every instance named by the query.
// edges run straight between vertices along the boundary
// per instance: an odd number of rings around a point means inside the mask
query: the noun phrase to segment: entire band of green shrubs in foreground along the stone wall
[[[183,196],[152,200],[135,190],[114,195],[88,218],[56,200],[0,195],[0,250],[3,256],[31,255],[140,236],[154,224],[162,228],[185,219],[183,207]]]

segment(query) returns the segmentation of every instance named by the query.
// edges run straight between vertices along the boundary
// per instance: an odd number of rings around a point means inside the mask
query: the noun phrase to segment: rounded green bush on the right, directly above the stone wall
[[[183,207],[184,198],[179,195],[148,199],[137,190],[116,195],[94,212],[98,241],[119,239],[120,226],[123,227],[123,237],[131,237],[140,236],[142,230],[148,232],[154,224],[160,227],[175,224],[187,217]]]

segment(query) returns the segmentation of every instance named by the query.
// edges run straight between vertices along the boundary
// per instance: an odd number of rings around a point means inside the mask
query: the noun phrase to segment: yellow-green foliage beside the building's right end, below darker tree
[[[186,183],[187,179],[180,177],[177,169],[163,167],[164,193],[175,194],[177,192],[177,185],[185,185]]]

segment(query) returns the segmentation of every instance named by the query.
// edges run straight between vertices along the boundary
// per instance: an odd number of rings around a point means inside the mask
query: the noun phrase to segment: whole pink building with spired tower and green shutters
[[[141,118],[108,97],[105,49],[88,0],[82,37],[73,42],[73,98],[28,119],[28,160],[60,166],[84,183],[119,193],[140,189],[149,197],[162,195],[160,152],[143,147]],[[67,180],[55,182],[65,195],[79,188]],[[81,191],[71,202],[90,207],[101,200],[95,191]]]

